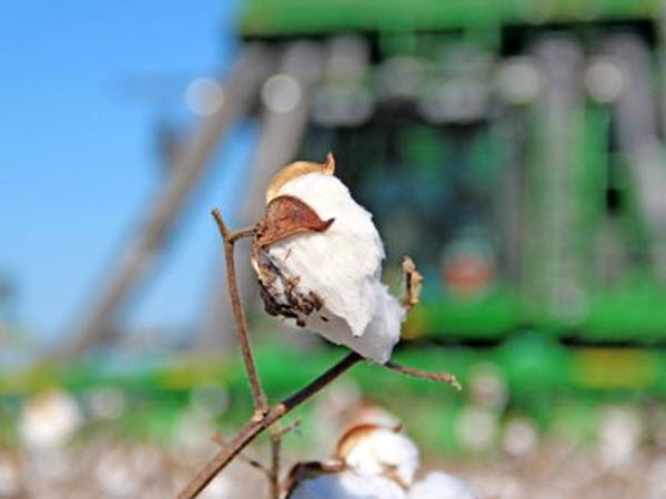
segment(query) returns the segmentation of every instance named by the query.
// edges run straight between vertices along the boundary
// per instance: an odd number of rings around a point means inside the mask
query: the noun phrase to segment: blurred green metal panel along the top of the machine
[[[658,0],[251,0],[240,30],[246,37],[271,37],[468,29],[645,19],[660,9]]]

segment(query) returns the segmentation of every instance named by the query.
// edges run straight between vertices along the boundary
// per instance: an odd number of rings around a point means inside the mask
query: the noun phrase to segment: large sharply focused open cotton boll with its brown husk
[[[384,364],[405,310],[381,282],[385,254],[372,215],[332,175],[332,162],[294,163],[271,182],[266,212],[278,215],[264,223],[281,231],[266,244],[260,231],[253,266],[269,313]]]

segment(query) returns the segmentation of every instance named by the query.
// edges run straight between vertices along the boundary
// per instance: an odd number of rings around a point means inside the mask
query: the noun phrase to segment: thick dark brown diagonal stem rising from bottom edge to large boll
[[[315,395],[326,385],[331,384],[335,378],[340,377],[352,366],[362,360],[362,357],[352,352],[342,358],[337,364],[320,375],[313,381],[301,388],[295,394],[282,400],[273,407],[262,419],[251,419],[234,439],[220,450],[218,455],[211,459],[185,488],[178,495],[178,499],[191,499],[196,497],[204,487],[223,469],[235,456],[241,452],[252,440],[254,440],[262,431],[269,428],[273,422],[282,419],[286,414],[291,413],[295,407],[303,404],[310,397]]]

